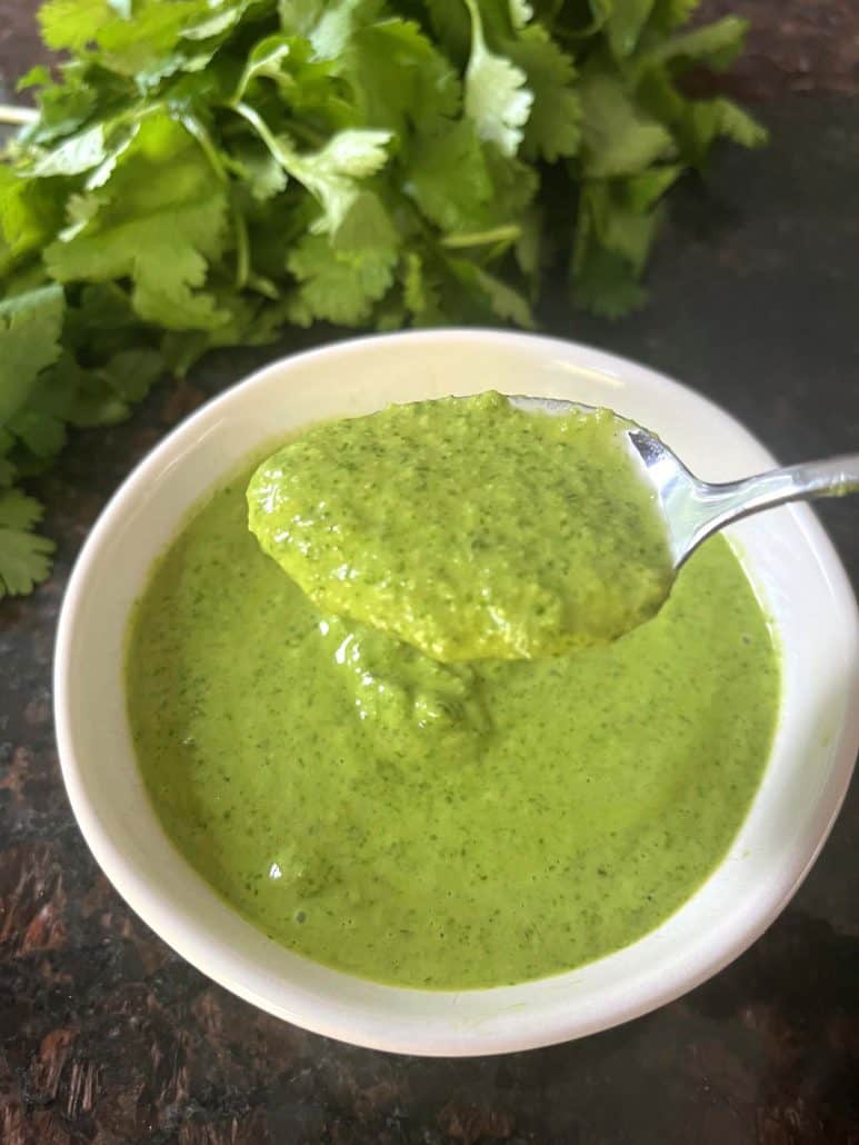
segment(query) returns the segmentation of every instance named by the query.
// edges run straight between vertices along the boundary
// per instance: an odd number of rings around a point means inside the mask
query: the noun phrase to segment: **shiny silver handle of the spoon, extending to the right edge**
[[[685,538],[679,546],[681,560],[710,534],[751,513],[786,502],[844,497],[854,492],[859,492],[859,453],[844,453],[825,461],[803,461],[720,485],[693,480],[691,495],[686,495]]]

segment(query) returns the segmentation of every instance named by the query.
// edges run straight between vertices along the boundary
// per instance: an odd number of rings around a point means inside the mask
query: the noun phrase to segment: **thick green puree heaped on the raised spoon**
[[[436,660],[559,655],[636,627],[673,579],[628,426],[495,393],[392,405],[265,461],[251,529],[320,608]]]

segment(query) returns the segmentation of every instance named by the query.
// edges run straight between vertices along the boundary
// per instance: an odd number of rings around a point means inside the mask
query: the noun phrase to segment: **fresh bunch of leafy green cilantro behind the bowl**
[[[665,191],[763,137],[683,93],[744,32],[695,7],[48,0],[65,62],[21,81],[39,111],[0,163],[0,597],[49,570],[21,480],[210,347],[530,326],[549,260],[578,306],[638,306]]]

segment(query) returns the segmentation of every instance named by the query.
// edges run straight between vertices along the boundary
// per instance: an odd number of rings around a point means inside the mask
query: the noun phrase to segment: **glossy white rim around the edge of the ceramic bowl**
[[[408,331],[349,338],[276,358],[207,401],[199,410],[195,411],[161,439],[134,466],[119,488],[113,492],[87,536],[69,578],[57,626],[54,657],[54,714],[58,757],[66,792],[78,826],[98,866],[109,881],[119,891],[128,906],[164,941],[172,946],[183,958],[191,962],[198,970],[227,989],[238,994],[260,1009],[267,1010],[277,1017],[286,1018],[304,1028],[372,1049],[427,1056],[472,1056],[531,1049],[567,1041],[573,1037],[585,1036],[648,1013],[706,981],[751,946],[771,925],[799,887],[829,836],[846,795],[856,761],[856,748],[859,744],[859,708],[857,705],[848,705],[844,719],[838,729],[837,743],[834,750],[834,759],[837,759],[837,766],[833,764],[832,774],[827,780],[826,814],[819,823],[820,829],[817,834],[817,842],[811,848],[805,848],[802,853],[790,852],[791,862],[785,866],[781,870],[781,877],[774,881],[773,885],[767,889],[764,907],[757,909],[754,919],[750,923],[747,922],[742,933],[733,935],[724,934],[720,941],[718,939],[714,941],[714,948],[709,957],[699,957],[696,961],[687,963],[683,969],[672,968],[671,973],[665,974],[664,981],[659,988],[649,990],[646,996],[618,1000],[614,1005],[608,1006],[607,1010],[597,1016],[576,1017],[575,1014],[562,1014],[549,1026],[541,1029],[535,1029],[529,1027],[527,1022],[522,1022],[521,1028],[503,1036],[497,1033],[482,1034],[480,1030],[472,1030],[467,1036],[452,1040],[444,1040],[443,1037],[421,1040],[419,1035],[416,1037],[403,1036],[401,1034],[389,1036],[388,1033],[380,1032],[378,1028],[370,1028],[370,1024],[362,1022],[360,1018],[349,1019],[342,1012],[338,1013],[338,1020],[333,1020],[337,1006],[331,1009],[330,1012],[320,1012],[322,1008],[318,1005],[318,1000],[314,1000],[300,990],[295,992],[294,1005],[285,1010],[283,1005],[274,1004],[266,996],[265,990],[260,992],[257,988],[259,981],[254,986],[242,980],[241,974],[236,977],[236,966],[231,966],[230,962],[229,943],[222,943],[224,948],[220,953],[216,951],[218,956],[203,957],[200,943],[192,940],[192,932],[195,931],[195,926],[198,927],[198,924],[192,919],[189,925],[187,919],[175,917],[175,913],[159,900],[157,886],[153,887],[145,875],[135,869],[131,860],[105,834],[100,816],[94,811],[85,789],[84,774],[86,763],[79,758],[76,750],[70,713],[69,679],[77,619],[81,602],[87,592],[92,570],[97,564],[102,546],[110,537],[116,522],[125,513],[126,502],[134,496],[139,488],[143,487],[157,474],[164,472],[165,461],[168,461],[178,445],[186,441],[194,441],[195,436],[199,437],[200,428],[213,419],[216,419],[223,406],[230,402],[241,401],[243,395],[250,394],[255,387],[265,385],[273,377],[283,374],[285,370],[289,371],[314,358],[336,360],[342,356],[348,357],[348,355],[355,352],[379,348],[391,342],[401,342],[407,339],[418,346],[420,342],[439,342],[440,340],[448,340],[454,344],[481,344],[490,340],[496,344],[507,342],[511,346],[513,344],[521,345],[523,341],[531,346],[534,344],[542,344],[542,347],[535,347],[535,349],[542,348],[545,352],[554,349],[565,356],[575,355],[583,369],[590,366],[594,370],[614,372],[630,379],[635,379],[636,376],[646,378],[649,385],[655,385],[659,388],[668,387],[669,393],[679,389],[686,394],[694,395],[698,402],[702,404],[702,409],[709,406],[714,414],[717,414],[723,423],[730,425],[732,433],[742,435],[744,442],[756,447],[761,455],[762,464],[775,464],[769,451],[740,421],[704,395],[691,389],[691,387],[673,381],[668,376],[649,366],[597,347],[566,339],[492,329],[442,327],[431,331]],[[791,508],[791,512],[811,550],[814,552],[825,576],[833,585],[834,592],[842,599],[848,613],[845,616],[845,626],[848,619],[852,616],[852,627],[857,632],[859,630],[859,610],[857,609],[856,598],[832,542],[809,506],[796,506]],[[166,545],[168,540],[170,537],[164,537],[163,545]],[[857,679],[859,679],[856,639],[852,647],[854,650],[853,682],[856,685]],[[719,863],[720,866],[722,863]],[[695,895],[699,893],[700,891],[696,891]],[[626,949],[630,948],[628,947]],[[331,973],[350,981],[363,981],[355,979],[354,976],[342,974],[338,971],[331,971]],[[552,981],[552,979],[543,979],[542,981]],[[373,984],[373,987],[377,990],[393,992],[397,995],[420,994],[426,996],[427,993],[431,993],[380,986],[377,984]],[[499,987],[497,989],[511,988]],[[433,993],[436,997],[455,997],[471,992]],[[489,994],[492,992],[478,993]]]

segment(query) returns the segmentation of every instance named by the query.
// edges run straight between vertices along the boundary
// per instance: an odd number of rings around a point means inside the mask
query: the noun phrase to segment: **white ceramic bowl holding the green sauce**
[[[278,435],[388,402],[490,387],[609,405],[655,429],[707,480],[773,463],[710,402],[594,349],[492,331],[341,342],[255,373],[150,453],[93,529],[57,639],[63,775],[80,829],[120,894],[183,957],[263,1010],[331,1037],[410,1053],[497,1053],[578,1037],[653,1010],[714,974],[764,931],[802,882],[838,811],[859,745],[853,594],[813,514],[779,508],[731,532],[783,655],[772,758],[730,854],[659,930],[543,981],[427,993],[308,962],[222,902],[164,835],[129,739],[123,643],[153,559],[198,498]]]

